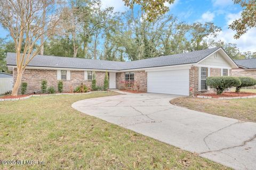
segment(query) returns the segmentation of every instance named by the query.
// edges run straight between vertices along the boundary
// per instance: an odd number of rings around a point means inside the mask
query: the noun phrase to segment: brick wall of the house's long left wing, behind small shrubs
[[[103,86],[104,77],[105,72],[95,72],[97,86]],[[13,71],[13,79],[14,82],[17,79],[16,69]],[[56,90],[58,89],[57,70],[26,69],[22,75],[21,82],[28,83],[27,94],[31,94],[34,91],[41,90],[42,80],[47,80],[47,87],[53,86]],[[84,80],[84,71],[70,71],[70,80],[63,81],[63,92],[70,92],[70,90],[74,90],[81,83],[91,87],[92,81]]]

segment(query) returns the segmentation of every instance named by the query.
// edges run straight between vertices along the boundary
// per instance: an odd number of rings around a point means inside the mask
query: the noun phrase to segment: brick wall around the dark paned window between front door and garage
[[[125,80],[125,72],[116,73],[116,88],[124,89],[121,81]],[[147,91],[147,72],[145,71],[134,71],[134,81],[140,86],[140,91]],[[138,88],[135,86],[135,90]]]

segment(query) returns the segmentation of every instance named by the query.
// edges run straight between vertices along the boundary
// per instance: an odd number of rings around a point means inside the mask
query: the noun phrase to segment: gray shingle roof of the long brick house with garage
[[[84,58],[72,57],[57,57],[37,55],[29,63],[28,66],[37,67],[61,67],[70,69],[97,69],[97,70],[129,70],[141,69],[147,67],[159,67],[170,65],[182,65],[197,63],[206,56],[212,54],[217,49],[203,49],[189,53],[174,54],[168,56],[160,56],[155,58],[148,58],[145,60],[130,61],[130,62],[116,62],[104,60],[90,60]],[[7,65],[16,65],[15,53],[7,53]]]

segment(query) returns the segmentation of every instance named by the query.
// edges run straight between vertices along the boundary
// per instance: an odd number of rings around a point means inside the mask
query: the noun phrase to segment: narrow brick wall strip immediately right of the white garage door
[[[198,67],[192,66],[189,69],[189,87],[192,89],[191,94],[198,94]]]

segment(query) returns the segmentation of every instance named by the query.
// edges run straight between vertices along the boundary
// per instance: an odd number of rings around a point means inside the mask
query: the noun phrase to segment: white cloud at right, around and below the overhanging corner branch
[[[239,39],[234,39],[235,31],[228,28],[228,25],[232,23],[235,19],[241,16],[241,12],[239,13],[229,13],[226,16],[227,25],[222,31],[219,33],[217,40],[225,41],[226,43],[235,43],[237,47],[242,52],[256,52],[256,28],[250,29],[244,35],[242,35]]]

